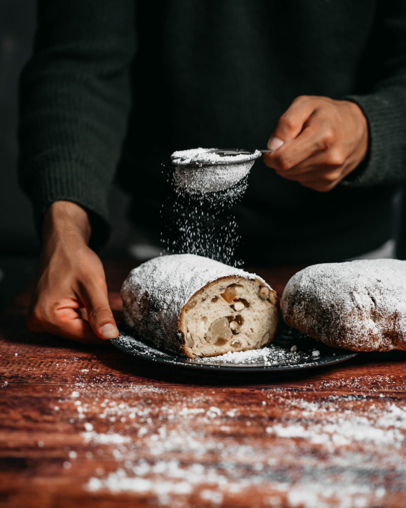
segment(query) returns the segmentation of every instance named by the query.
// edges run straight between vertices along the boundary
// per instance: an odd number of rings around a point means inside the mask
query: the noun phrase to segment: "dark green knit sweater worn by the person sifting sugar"
[[[339,260],[391,236],[406,179],[406,2],[42,0],[19,129],[37,225],[53,201],[74,201],[103,243],[117,174],[131,217],[157,235],[172,151],[265,147],[300,94],[355,101],[367,161],[325,194],[257,162],[236,209],[252,261]]]

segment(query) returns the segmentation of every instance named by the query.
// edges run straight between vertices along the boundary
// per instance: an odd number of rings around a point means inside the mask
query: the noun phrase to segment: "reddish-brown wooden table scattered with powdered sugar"
[[[117,317],[130,267],[106,263]],[[28,295],[0,322],[0,506],[406,506],[405,353],[193,375],[30,333]]]

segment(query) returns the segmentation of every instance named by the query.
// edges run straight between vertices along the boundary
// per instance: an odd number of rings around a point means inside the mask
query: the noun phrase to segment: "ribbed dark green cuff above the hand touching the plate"
[[[49,206],[55,201],[71,201],[88,212],[91,223],[89,246],[94,250],[104,246],[111,232],[106,184],[87,171],[83,163],[75,161],[48,161],[34,174],[30,197],[39,237],[42,236],[43,216]]]

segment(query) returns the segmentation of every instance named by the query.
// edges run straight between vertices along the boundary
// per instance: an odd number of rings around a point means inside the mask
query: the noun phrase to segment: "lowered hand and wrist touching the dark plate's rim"
[[[67,201],[50,206],[27,317],[30,330],[87,343],[118,336],[103,265],[87,246],[89,237],[83,208]]]

